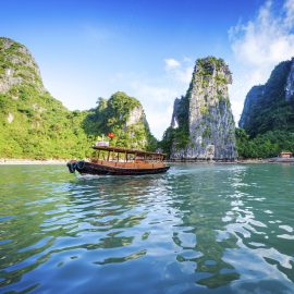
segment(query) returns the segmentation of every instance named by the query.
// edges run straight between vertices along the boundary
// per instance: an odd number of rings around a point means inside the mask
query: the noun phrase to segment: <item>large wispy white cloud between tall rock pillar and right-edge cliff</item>
[[[286,0],[280,11],[267,1],[254,20],[230,28],[235,81],[230,94],[236,121],[250,87],[266,83],[278,63],[294,56],[293,28],[294,0]]]

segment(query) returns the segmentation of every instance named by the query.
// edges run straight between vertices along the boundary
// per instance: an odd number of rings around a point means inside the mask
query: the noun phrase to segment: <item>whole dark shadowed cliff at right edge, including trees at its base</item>
[[[265,85],[246,96],[236,130],[243,158],[269,158],[283,150],[294,151],[293,60],[281,62]]]

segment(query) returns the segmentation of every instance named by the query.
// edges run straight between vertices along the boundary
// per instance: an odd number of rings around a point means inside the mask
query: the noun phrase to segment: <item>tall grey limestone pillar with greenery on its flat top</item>
[[[235,126],[228,84],[232,75],[221,59],[213,57],[196,62],[186,96],[176,99],[171,127],[174,128],[171,158],[236,158]],[[179,131],[187,136],[181,144]]]

